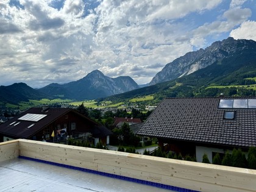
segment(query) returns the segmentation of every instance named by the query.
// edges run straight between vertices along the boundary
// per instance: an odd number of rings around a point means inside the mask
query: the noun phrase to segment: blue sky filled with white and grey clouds
[[[253,0],[0,0],[0,85],[32,88],[95,69],[147,84],[190,51],[256,41]]]

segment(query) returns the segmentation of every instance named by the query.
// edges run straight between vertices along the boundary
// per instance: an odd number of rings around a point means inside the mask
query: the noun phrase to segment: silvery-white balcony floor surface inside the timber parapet
[[[170,191],[21,158],[0,162],[0,172],[0,191]]]

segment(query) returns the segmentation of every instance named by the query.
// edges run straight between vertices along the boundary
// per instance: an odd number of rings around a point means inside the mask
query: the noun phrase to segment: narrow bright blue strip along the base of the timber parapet
[[[118,176],[118,175],[107,173],[107,172],[94,171],[94,170],[86,169],[86,168],[79,168],[77,166],[71,166],[71,165],[65,165],[65,164],[61,164],[61,163],[48,162],[48,161],[40,160],[40,159],[37,159],[37,158],[25,157],[25,156],[21,156],[21,155],[19,156],[19,158],[23,158],[23,159],[26,159],[26,160],[32,160],[34,162],[46,163],[46,164],[49,164],[49,165],[61,166],[61,167],[64,167],[64,168],[69,168],[69,169],[74,169],[74,170],[79,170],[79,171],[84,171],[84,172],[90,172],[90,173],[93,173],[93,174],[98,174],[100,176],[112,177],[114,179],[127,180],[129,182],[140,183],[140,184],[143,184],[143,185],[150,185],[152,187],[163,188],[165,190],[172,190],[172,191],[179,191],[179,192],[199,192],[199,191],[194,191],[194,190],[188,190],[188,189],[185,189],[185,188],[174,187],[172,185],[165,185],[165,184],[161,184],[161,183],[149,182],[149,181],[146,181],[146,180],[134,179],[134,178],[131,178],[131,177],[126,177],[126,176]]]

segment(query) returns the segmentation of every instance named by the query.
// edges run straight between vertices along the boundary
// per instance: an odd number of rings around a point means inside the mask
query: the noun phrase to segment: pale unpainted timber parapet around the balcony
[[[0,162],[29,157],[197,191],[255,191],[256,170],[32,140],[0,143]]]

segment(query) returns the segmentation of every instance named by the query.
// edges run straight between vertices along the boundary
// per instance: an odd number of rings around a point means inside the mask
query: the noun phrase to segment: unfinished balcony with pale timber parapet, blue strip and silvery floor
[[[256,170],[32,140],[0,143],[0,191],[254,191]],[[130,182],[133,182],[132,185]]]

